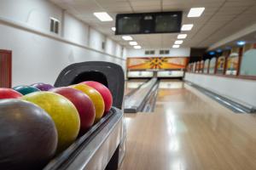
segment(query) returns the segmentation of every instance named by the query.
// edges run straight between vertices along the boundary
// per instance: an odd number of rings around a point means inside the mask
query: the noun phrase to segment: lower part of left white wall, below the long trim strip
[[[123,65],[123,60],[79,48],[31,32],[0,25],[0,47],[13,51],[13,86],[54,83],[61,70],[76,62],[102,60]],[[21,45],[23,44],[23,45]]]

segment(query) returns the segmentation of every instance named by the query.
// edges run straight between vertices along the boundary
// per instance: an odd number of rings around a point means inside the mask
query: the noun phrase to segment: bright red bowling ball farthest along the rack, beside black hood
[[[100,82],[88,81],[88,82],[81,82],[81,83],[88,85],[91,88],[95,88],[96,91],[98,91],[100,94],[102,94],[102,98],[103,98],[104,104],[105,104],[104,114],[107,114],[108,111],[111,109],[112,103],[113,103],[113,98],[112,98],[112,94],[111,94],[110,90]]]

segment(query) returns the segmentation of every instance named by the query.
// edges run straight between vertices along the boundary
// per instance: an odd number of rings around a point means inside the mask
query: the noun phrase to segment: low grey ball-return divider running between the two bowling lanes
[[[138,111],[143,111],[143,108],[145,107],[148,98],[150,98],[151,94],[153,94],[153,92],[157,90],[157,87],[158,80],[154,77],[148,82],[143,83],[131,95],[126,96],[125,113],[137,113]]]

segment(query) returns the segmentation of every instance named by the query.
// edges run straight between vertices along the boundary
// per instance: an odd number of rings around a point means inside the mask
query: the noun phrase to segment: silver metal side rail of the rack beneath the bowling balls
[[[113,107],[107,116],[50,161],[44,170],[105,169],[121,142],[122,116],[122,111]]]

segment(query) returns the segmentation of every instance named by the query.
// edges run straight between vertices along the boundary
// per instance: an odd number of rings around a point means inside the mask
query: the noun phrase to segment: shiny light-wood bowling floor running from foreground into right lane
[[[125,115],[121,170],[256,169],[255,115],[233,113],[183,82],[169,83],[159,90],[154,113]]]

